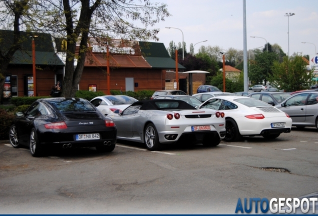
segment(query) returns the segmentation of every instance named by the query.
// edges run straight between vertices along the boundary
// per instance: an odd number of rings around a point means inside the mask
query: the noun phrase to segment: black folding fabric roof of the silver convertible
[[[131,104],[133,105],[141,105],[140,109],[148,110],[148,109],[196,109],[191,106],[187,102],[183,100],[172,100],[172,99],[150,99],[150,100],[140,100]]]

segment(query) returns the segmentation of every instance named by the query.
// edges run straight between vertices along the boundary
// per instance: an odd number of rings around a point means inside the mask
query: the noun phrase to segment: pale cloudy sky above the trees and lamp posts
[[[243,50],[243,0],[151,1],[167,4],[172,14],[154,26],[160,29],[157,42],[165,47],[171,40],[182,42],[183,32],[187,52],[190,43],[197,43],[195,53],[201,45]],[[290,55],[313,55],[318,51],[318,0],[245,0],[245,8],[247,50],[264,47],[267,41],[277,43],[287,54],[289,25]],[[200,42],[203,40],[207,41]]]

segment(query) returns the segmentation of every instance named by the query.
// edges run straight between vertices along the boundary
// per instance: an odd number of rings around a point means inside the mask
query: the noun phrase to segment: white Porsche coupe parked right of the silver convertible
[[[246,96],[216,96],[199,108],[211,108],[225,113],[224,140],[237,141],[242,136],[261,135],[266,139],[290,132],[291,118],[267,103]]]

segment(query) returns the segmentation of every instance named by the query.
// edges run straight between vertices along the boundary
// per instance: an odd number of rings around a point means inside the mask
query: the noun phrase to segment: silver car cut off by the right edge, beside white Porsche
[[[291,117],[293,126],[318,128],[318,91],[293,94],[275,107]]]

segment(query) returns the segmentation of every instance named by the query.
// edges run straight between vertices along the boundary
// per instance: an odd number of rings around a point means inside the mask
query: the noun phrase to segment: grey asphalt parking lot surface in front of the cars
[[[317,129],[273,140],[148,151],[117,141],[109,153],[60,149],[32,157],[0,142],[0,213],[234,213],[238,198],[318,191]]]

